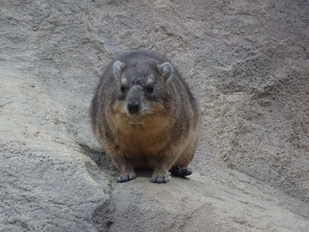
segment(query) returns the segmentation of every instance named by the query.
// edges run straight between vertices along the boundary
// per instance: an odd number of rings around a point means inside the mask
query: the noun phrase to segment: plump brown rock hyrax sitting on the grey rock
[[[167,183],[169,171],[187,176],[200,127],[197,100],[164,56],[143,50],[121,54],[104,71],[91,102],[99,143],[120,170],[154,170],[153,183]]]

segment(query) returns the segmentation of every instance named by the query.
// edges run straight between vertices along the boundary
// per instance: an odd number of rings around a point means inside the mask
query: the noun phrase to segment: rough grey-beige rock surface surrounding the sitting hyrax
[[[0,231],[309,231],[309,2],[1,1]],[[91,131],[122,51],[200,101],[189,178],[116,183]]]

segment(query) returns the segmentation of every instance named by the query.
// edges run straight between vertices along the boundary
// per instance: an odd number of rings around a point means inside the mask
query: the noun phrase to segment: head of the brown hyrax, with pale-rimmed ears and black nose
[[[113,66],[118,84],[115,105],[133,122],[147,115],[164,112],[169,99],[168,82],[173,68],[170,63],[133,60],[116,61]]]

